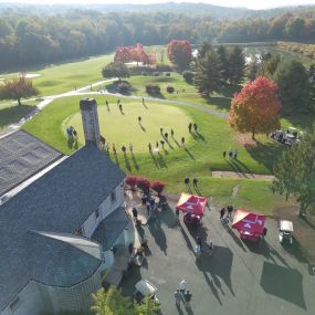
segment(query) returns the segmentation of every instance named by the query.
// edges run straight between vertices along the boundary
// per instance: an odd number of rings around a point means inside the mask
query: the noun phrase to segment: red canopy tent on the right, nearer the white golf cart
[[[232,228],[240,232],[241,239],[260,240],[264,232],[265,216],[238,209],[233,218]]]

